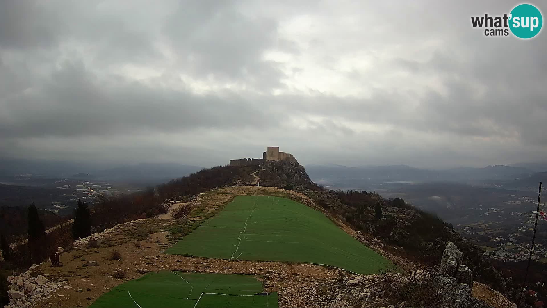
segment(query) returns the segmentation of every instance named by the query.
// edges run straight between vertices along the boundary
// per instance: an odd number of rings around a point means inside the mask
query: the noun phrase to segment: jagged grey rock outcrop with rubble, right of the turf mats
[[[407,275],[390,272],[341,277],[328,282],[331,287],[325,300],[330,301],[334,307],[493,308],[471,296],[473,273],[462,264],[462,260],[463,253],[449,242],[438,266]],[[408,290],[416,294],[409,293]],[[431,298],[421,299],[420,296]]]

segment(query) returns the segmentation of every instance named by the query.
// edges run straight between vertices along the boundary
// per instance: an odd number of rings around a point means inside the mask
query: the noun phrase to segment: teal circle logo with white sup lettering
[[[532,38],[542,30],[542,12],[532,4],[517,5],[509,18],[509,28],[516,37]]]

